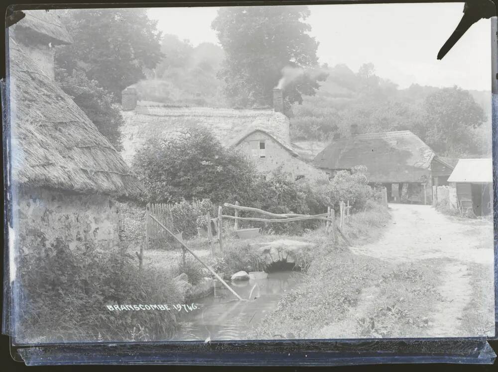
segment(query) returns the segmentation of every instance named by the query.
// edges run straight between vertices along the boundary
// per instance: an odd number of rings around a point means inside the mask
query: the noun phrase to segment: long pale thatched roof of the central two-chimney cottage
[[[272,109],[167,107],[156,102],[139,101],[134,110],[122,113],[126,122],[122,155],[126,161],[130,161],[148,139],[168,137],[187,125],[211,129],[227,147],[238,145],[251,133],[264,132],[292,156],[297,156],[290,143],[289,119]]]

